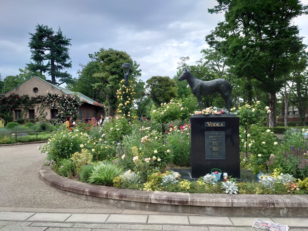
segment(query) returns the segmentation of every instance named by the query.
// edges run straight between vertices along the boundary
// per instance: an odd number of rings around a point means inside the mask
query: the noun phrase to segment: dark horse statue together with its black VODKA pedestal
[[[199,178],[211,169],[221,169],[229,176],[240,178],[239,118],[230,114],[232,86],[225,79],[202,81],[186,69],[179,81],[187,79],[196,95],[201,111],[201,95],[218,92],[229,102],[228,114],[192,115],[191,121],[191,177]]]

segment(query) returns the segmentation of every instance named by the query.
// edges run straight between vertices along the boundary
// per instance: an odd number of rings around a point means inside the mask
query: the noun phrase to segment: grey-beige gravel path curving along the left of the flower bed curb
[[[123,209],[83,201],[57,191],[39,176],[46,154],[40,144],[0,147],[0,207],[51,209]]]

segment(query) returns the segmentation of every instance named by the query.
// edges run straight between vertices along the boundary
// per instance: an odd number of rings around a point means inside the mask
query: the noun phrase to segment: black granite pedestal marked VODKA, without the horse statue
[[[191,177],[199,178],[221,169],[228,176],[240,178],[239,118],[234,114],[192,115]]]

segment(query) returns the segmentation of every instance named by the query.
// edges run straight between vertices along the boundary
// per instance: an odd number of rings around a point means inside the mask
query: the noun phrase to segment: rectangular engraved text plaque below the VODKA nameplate
[[[226,144],[225,144],[224,131],[205,132],[205,159],[206,160],[226,159]]]

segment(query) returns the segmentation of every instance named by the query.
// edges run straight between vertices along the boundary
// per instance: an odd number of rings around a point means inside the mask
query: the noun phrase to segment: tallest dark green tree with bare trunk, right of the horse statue
[[[269,93],[270,127],[276,126],[276,92],[290,71],[290,55],[302,50],[294,18],[307,14],[298,0],[217,0],[210,13],[225,12],[225,21],[206,36],[213,48],[228,57],[240,77],[257,79]]]

